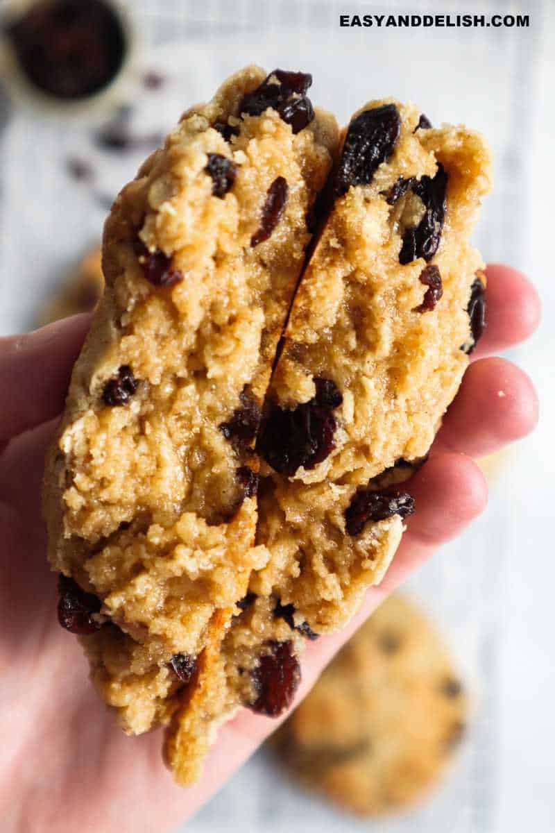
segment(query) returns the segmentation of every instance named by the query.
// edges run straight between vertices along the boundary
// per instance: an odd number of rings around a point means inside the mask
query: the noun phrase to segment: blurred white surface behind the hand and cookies
[[[487,514],[411,581],[473,691],[470,736],[444,786],[410,818],[353,821],[297,792],[263,751],[187,830],[553,831],[553,3],[388,4],[402,12],[530,13],[531,27],[519,30],[339,29],[339,12],[384,11],[368,2],[132,5],[151,65],[169,77],[162,92],[142,92],[137,101],[136,125],[145,132],[171,127],[187,104],[252,61],[312,72],[313,101],[342,121],[365,100],[394,95],[417,102],[434,123],[482,130],[495,152],[496,185],[476,241],[487,260],[531,274],[544,305],[540,332],[512,353],[540,390],[538,431],[506,458]],[[96,190],[113,196],[141,154],[107,157],[84,128],[45,123],[18,108],[2,119],[3,112],[0,103],[0,332],[7,333],[32,326],[41,299],[101,233],[104,210],[90,188],[67,178],[67,156],[91,157]]]

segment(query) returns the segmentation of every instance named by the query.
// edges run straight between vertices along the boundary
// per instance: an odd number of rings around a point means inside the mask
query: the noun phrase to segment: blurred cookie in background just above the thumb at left
[[[37,323],[42,326],[59,318],[77,315],[77,312],[90,312],[97,306],[103,291],[102,248],[95,246],[82,257],[62,286],[42,307]]]

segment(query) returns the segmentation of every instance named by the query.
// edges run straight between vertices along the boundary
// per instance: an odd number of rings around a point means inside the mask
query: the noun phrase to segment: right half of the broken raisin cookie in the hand
[[[412,510],[384,472],[402,479],[427,454],[479,335],[483,262],[468,238],[488,147],[466,127],[419,125],[390,99],[350,122],[258,441],[270,485],[256,541],[270,559],[250,589],[319,633],[384,576]]]

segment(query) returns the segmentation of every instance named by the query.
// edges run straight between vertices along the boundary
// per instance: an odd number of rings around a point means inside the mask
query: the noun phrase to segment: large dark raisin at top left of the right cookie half
[[[400,129],[401,118],[394,104],[364,110],[353,119],[335,174],[336,197],[348,192],[352,185],[372,182],[379,165],[393,153]]]

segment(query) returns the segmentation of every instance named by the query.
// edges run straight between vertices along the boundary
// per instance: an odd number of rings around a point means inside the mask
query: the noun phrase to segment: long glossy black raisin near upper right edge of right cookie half
[[[424,257],[429,262],[438,251],[444,230],[445,193],[447,191],[447,173],[443,165],[438,165],[434,177],[424,176],[411,186],[412,191],[424,202],[424,217],[415,228],[404,232],[403,246],[399,252],[399,263],[403,266]]]

